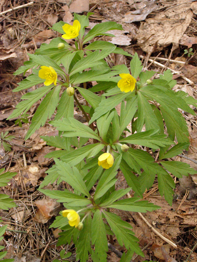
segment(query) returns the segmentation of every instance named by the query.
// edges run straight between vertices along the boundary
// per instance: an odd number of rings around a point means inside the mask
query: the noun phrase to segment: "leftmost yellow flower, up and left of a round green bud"
[[[52,66],[41,66],[38,76],[42,79],[46,79],[46,81],[44,82],[46,86],[50,86],[50,84],[52,83],[54,83],[54,85],[57,84],[57,73]]]

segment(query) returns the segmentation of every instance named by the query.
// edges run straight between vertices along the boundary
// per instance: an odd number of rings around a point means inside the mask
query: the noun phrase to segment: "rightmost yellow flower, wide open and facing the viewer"
[[[122,92],[133,91],[135,88],[136,79],[130,74],[120,74],[122,79],[118,81],[118,87]]]

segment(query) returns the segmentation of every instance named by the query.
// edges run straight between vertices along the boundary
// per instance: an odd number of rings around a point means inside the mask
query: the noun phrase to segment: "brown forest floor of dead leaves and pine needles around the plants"
[[[27,5],[23,6],[25,4]],[[6,10],[8,11],[5,12]],[[122,24],[125,30],[113,31],[115,38],[98,36],[96,40],[110,41],[132,55],[137,52],[142,59],[143,70],[163,72],[170,68],[173,79],[177,80],[174,90],[183,90],[197,98],[197,1],[1,0],[0,130],[4,133],[8,131],[9,135],[15,138],[10,141],[11,151],[5,151],[1,145],[0,167],[6,171],[17,172],[17,175],[8,186],[0,189],[0,193],[9,194],[18,207],[9,211],[0,210],[0,217],[3,220],[1,225],[8,224],[3,243],[8,251],[5,258],[15,258],[17,262],[53,261],[60,258],[62,248],[71,251],[73,258],[69,261],[75,261],[75,249],[72,243],[56,246],[60,230],[48,228],[62,206],[36,190],[46,176],[45,171],[53,165],[53,159],[44,156],[57,150],[47,146],[40,136],[57,135],[58,131],[46,123],[24,141],[29,121],[40,100],[27,112],[28,123],[22,122],[22,127],[15,123],[17,118],[6,120],[20,102],[20,97],[27,92],[12,92],[17,83],[24,79],[22,75],[13,76],[13,72],[28,60],[27,53],[34,53],[41,43],[50,43],[51,39],[60,36],[49,27],[60,20],[72,24],[74,12],[87,14],[88,11],[94,14],[90,16],[90,26],[86,32],[102,21],[116,21]],[[68,42],[74,44],[73,40]],[[185,49],[193,54],[184,54]],[[111,66],[125,63],[129,67],[130,57],[111,54],[107,62]],[[26,72],[25,76],[28,75]],[[88,85],[91,87],[95,82],[89,82]],[[29,88],[28,91],[35,88]],[[78,97],[80,102],[85,104],[80,94]],[[74,113],[75,118],[86,122],[77,107]],[[185,151],[175,160],[186,162],[197,169],[197,118],[187,112],[182,114],[187,121],[191,145],[188,152]],[[157,160],[157,151],[149,153]],[[117,178],[118,189],[127,187],[121,172],[118,172]],[[147,212],[143,217],[140,213],[118,213],[133,226],[145,255],[145,258],[135,255],[132,261],[197,261],[197,175],[173,179],[176,189],[172,206],[158,193],[156,178],[153,187],[146,190],[143,198],[161,206],[161,209]],[[65,183],[58,186],[53,183],[47,188],[63,190],[65,187]],[[177,248],[172,247],[161,236],[174,242]],[[109,250],[108,261],[120,261],[120,253],[117,250],[123,252],[124,248],[118,245],[115,238],[110,249],[114,252]]]

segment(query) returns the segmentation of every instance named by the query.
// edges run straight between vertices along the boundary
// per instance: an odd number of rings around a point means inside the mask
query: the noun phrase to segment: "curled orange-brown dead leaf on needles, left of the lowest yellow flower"
[[[54,199],[43,198],[36,200],[35,204],[38,208],[34,219],[40,223],[46,223],[50,217],[57,215],[61,209],[61,204],[56,202]]]

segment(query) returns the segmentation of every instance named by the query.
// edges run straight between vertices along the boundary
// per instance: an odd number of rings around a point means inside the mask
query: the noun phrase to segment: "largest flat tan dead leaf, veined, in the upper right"
[[[193,12],[184,0],[173,1],[173,4],[174,7],[157,13],[154,18],[148,18],[140,24],[136,38],[144,52],[151,54],[161,51],[171,43],[174,48],[179,46],[179,40],[190,24]],[[179,4],[182,4],[181,8]]]

